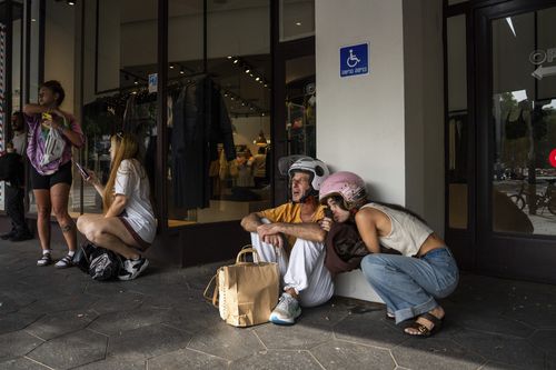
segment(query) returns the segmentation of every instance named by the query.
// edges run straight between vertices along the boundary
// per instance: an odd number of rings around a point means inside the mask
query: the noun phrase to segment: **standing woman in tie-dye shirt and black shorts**
[[[71,147],[81,148],[83,132],[76,118],[60,110],[66,93],[58,81],[47,81],[39,90],[39,103],[27,104],[23,109],[29,124],[27,157],[31,162],[31,186],[37,202],[37,229],[42,257],[37,266],[52,263],[50,252],[50,213],[53,210],[68,244],[68,254],[56,263],[57,268],[71,266],[77,247],[73,220],[68,214],[68,199],[72,182]],[[60,133],[63,151],[61,156],[50,156],[47,139],[51,130]]]

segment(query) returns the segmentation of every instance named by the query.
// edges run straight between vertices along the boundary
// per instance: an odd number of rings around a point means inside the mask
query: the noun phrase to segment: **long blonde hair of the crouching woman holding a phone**
[[[110,177],[105,188],[105,194],[102,197],[102,207],[105,212],[108,211],[113,202],[113,186],[116,183],[116,177],[118,174],[118,169],[120,164],[126,159],[139,159],[139,144],[137,139],[129,133],[117,133],[110,138],[110,144],[116,148],[116,153],[113,161],[110,167]]]

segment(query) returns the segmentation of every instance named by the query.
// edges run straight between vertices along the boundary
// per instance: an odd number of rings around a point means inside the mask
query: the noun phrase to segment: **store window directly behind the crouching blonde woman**
[[[155,191],[157,92],[149,76],[157,72],[158,1],[86,1],[86,54],[80,161],[103,183],[110,173],[110,137],[135,133]],[[75,183],[82,180],[75,176]],[[78,180],[79,179],[79,180]],[[83,212],[101,212],[102,200],[83,183]]]

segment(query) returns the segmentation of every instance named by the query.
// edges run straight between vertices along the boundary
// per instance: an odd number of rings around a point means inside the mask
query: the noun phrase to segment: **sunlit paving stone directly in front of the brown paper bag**
[[[188,348],[227,360],[237,360],[265,349],[251,330],[231,326],[209,328],[195,334]]]

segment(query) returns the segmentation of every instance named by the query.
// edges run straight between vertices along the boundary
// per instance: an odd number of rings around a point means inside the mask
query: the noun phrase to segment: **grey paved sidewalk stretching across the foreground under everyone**
[[[100,283],[39,256],[0,241],[0,369],[556,369],[556,286],[464,274],[423,340],[339,298],[294,327],[229,327],[202,299],[220,263]]]

